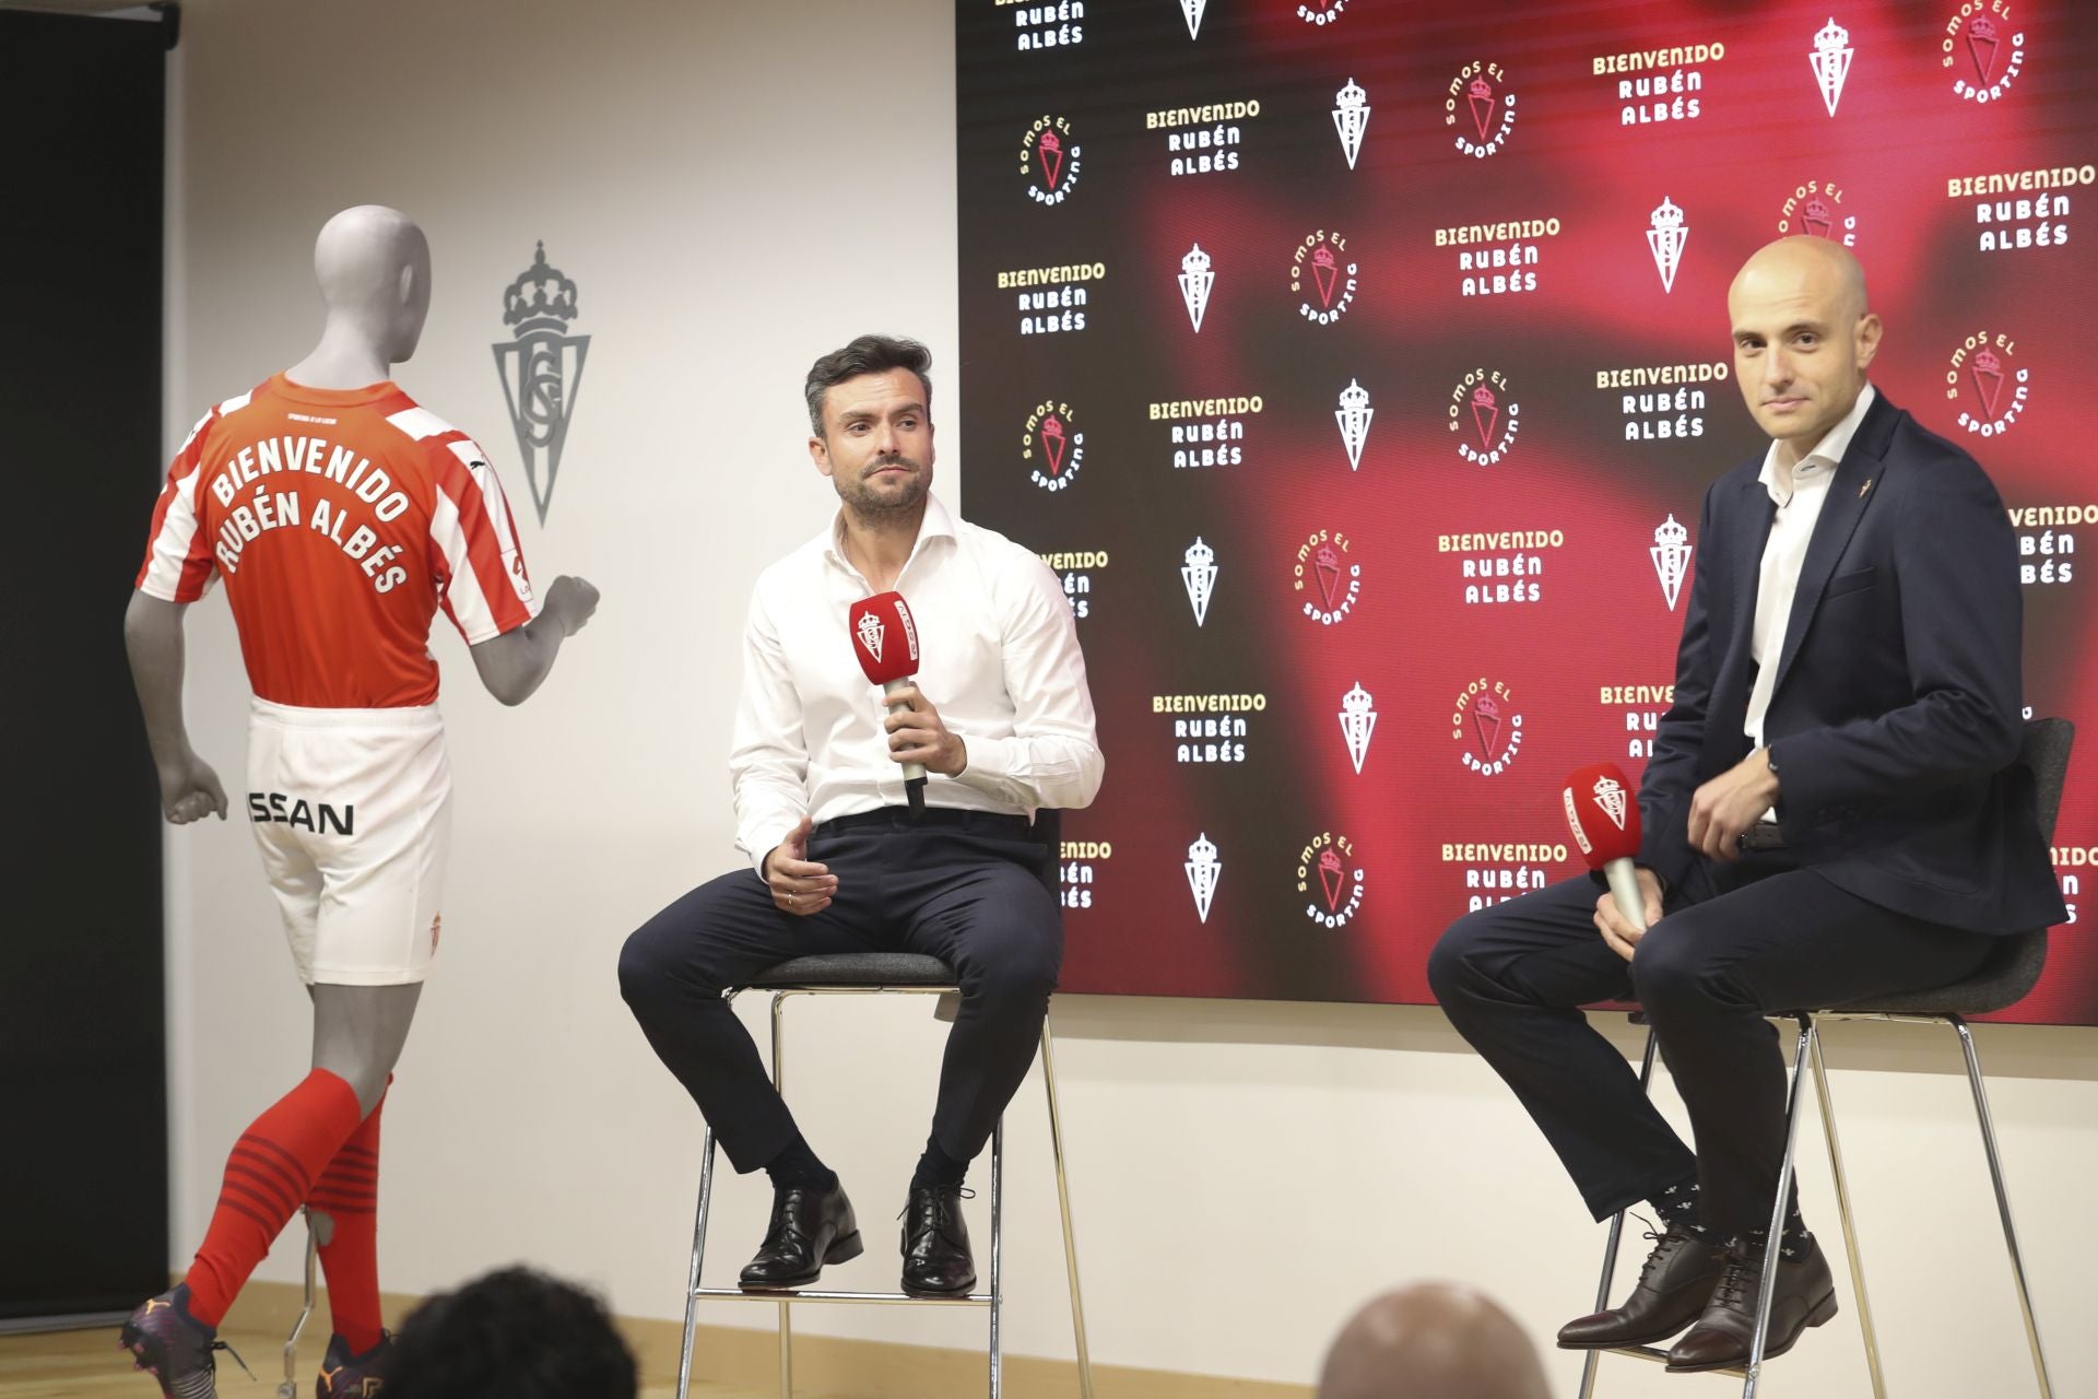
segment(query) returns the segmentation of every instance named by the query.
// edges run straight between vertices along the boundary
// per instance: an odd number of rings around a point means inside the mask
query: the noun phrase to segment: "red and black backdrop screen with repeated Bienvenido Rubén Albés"
[[[957,4],[965,512],[1043,554],[1108,554],[1101,568],[1066,571],[1087,573],[1091,589],[1078,633],[1108,780],[1091,810],[1066,816],[1064,839],[1112,847],[1066,860],[1066,990],[1425,1003],[1427,950],[1477,894],[1467,868],[1580,870],[1452,862],[1443,847],[1565,845],[1557,793],[1571,768],[1615,759],[1636,780],[1628,707],[1601,692],[1672,682],[1689,585],[1672,610],[1653,531],[1670,514],[1695,531],[1706,485],[1762,453],[1731,378],[1727,283],[1754,247],[1800,231],[1785,203],[1808,182],[1840,195],[1838,233],[1855,218],[1886,321],[1880,392],[1966,445],[2012,510],[2098,501],[2098,260],[2085,250],[2098,247],[2098,187],[1947,193],[1953,178],[2098,162],[2098,6],[1985,0],[2001,38],[1993,82],[2022,52],[1989,103],[1955,92],[1976,76],[1962,27],[1962,8],[1976,6],[1962,0],[1347,0],[1324,25],[1297,0],[1208,0],[1198,38],[1179,0],[1072,8],[1080,42],[1022,50],[1018,36],[1057,27],[1032,23],[1036,6]],[[1832,17],[1855,50],[1836,115],[1808,61]],[[1594,71],[1607,55],[1706,44],[1725,57]],[[1496,96],[1517,99],[1487,157],[1454,149],[1456,134],[1477,136],[1462,92],[1446,124],[1452,82],[1475,63],[1498,65]],[[1620,80],[1676,67],[1701,78],[1685,92],[1699,115],[1624,126]],[[1353,170],[1332,120],[1349,80],[1372,111]],[[1169,174],[1166,132],[1146,113],[1253,101],[1261,115],[1238,122],[1236,170]],[[1076,159],[1057,206],[1028,195],[1039,162],[1022,174],[1022,143],[1045,115],[1068,122]],[[1976,222],[1976,206],[2039,193],[2067,193],[2069,214],[2043,220],[2067,241],[1981,252],[1993,224]],[[1645,237],[1664,197],[1689,227],[1672,292]],[[1534,292],[1460,294],[1460,250],[1437,247],[1437,229],[1546,218],[1557,235],[1519,239],[1538,247]],[[1332,325],[1305,321],[1290,292],[1292,256],[1315,231],[1341,233],[1360,266]],[[1217,273],[1200,333],[1177,285],[1196,241]],[[1093,262],[1106,277],[1080,283],[1085,329],[1022,336],[999,273]],[[1983,415],[1970,365],[1953,365],[1970,338],[1997,344],[2004,403],[2027,375],[2022,413],[1987,438],[1960,426],[1962,411]],[[1603,390],[1597,373],[1699,363],[1729,367],[1695,386],[1706,403],[1687,415],[1701,417],[1701,436],[1624,440],[1622,396],[1657,390]],[[1452,430],[1452,394],[1479,369],[1504,378],[1500,403],[1521,415],[1494,466],[1456,451],[1477,440],[1469,411]],[[1360,470],[1334,424],[1351,380],[1374,409]],[[1263,411],[1244,417],[1240,464],[1175,470],[1171,424],[1152,422],[1150,405],[1253,394]],[[1039,443],[1034,461],[1022,455],[1045,401],[1068,405],[1085,434],[1083,468],[1059,491],[1030,478]],[[1297,550],[1318,531],[1345,535],[1362,566],[1362,596],[1336,625],[1303,617],[1294,589]],[[1475,554],[1437,541],[1500,531],[1561,531],[1565,543],[1521,550],[1542,558],[1540,600],[1467,604],[1460,568]],[[1179,575],[1198,535],[1219,566],[1202,627]],[[2098,560],[2062,550],[2098,547],[2098,524],[2018,535],[2035,547],[2020,560],[2035,566],[2027,705],[2081,719],[2098,696],[2098,579],[2081,568]],[[2050,562],[2054,581],[2039,581]],[[1469,709],[1454,722],[1456,701],[1477,682],[1504,690],[1504,724],[1521,715],[1521,747],[1498,776],[1460,761],[1477,734]],[[1360,774],[1339,722],[1355,684],[1378,713]],[[1154,696],[1234,692],[1265,696],[1248,715],[1246,761],[1177,761],[1175,715],[1154,713]],[[1200,835],[1221,860],[1206,921],[1183,870]],[[1345,837],[1362,889],[1339,929],[1307,917],[1307,904],[1326,906],[1307,847],[1328,837]],[[2071,908],[2081,879],[2098,877],[2079,864],[2094,845],[2088,736],[2056,831],[2058,870],[2077,879]],[[2046,980],[2006,1019],[2098,1024],[2098,956],[2081,925],[2056,929]]]

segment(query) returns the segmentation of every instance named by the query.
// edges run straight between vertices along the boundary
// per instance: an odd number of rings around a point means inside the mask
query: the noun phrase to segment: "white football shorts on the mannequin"
[[[302,982],[401,986],[430,975],[451,847],[436,705],[254,701],[248,820]]]

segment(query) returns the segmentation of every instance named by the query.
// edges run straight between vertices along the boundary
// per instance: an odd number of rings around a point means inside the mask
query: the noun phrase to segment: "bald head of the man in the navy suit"
[[[1777,239],[1741,264],[1727,315],[1748,411],[1792,466],[1844,419],[1880,352],[1865,268],[1832,239]]]

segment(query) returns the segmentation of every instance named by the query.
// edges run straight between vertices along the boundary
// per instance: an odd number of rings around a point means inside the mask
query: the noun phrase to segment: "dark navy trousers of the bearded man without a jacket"
[[[820,952],[927,952],[955,969],[961,1013],[946,1038],[932,1133],[976,1160],[1041,1042],[1064,963],[1064,921],[1045,883],[1053,858],[1024,816],[902,808],[845,816],[810,835],[837,877],[831,906],[797,917],[749,868],[692,889],[619,954],[619,990],[648,1045],[699,1103],[736,1170],[793,1141],[757,1045],[722,990]]]

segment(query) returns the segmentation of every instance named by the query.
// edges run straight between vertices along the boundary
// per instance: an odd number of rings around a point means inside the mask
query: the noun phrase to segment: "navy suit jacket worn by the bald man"
[[[1762,459],[1706,491],[1674,705],[1641,782],[1639,862],[1708,887],[1689,803],[1748,757]],[[1764,742],[1800,864],[1882,908],[1989,933],[2067,917],[2010,766],[2022,736],[2022,598],[2004,501],[1966,451],[1880,394],[1806,545]],[[1695,898],[1695,894],[1693,894]]]

